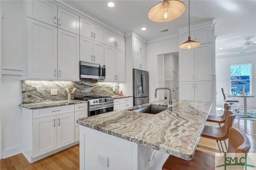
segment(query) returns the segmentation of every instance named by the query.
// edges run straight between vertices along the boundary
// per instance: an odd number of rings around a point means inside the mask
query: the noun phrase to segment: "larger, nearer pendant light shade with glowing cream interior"
[[[185,5],[179,0],[164,0],[148,11],[148,18],[155,22],[174,20],[183,14]]]

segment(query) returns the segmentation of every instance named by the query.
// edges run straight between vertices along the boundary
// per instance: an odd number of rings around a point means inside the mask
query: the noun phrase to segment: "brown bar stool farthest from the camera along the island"
[[[206,121],[207,122],[218,123],[219,126],[221,127],[220,123],[225,123],[226,111],[230,111],[230,110],[231,110],[231,105],[225,103],[224,104],[224,114],[222,116],[212,116],[212,115],[209,115]],[[225,144],[226,150],[228,150],[228,147],[227,147],[227,144],[226,144],[225,140],[224,140],[224,144]],[[222,146],[221,142],[220,142],[220,145],[222,147],[222,151],[224,152],[224,149],[223,149],[223,146]]]

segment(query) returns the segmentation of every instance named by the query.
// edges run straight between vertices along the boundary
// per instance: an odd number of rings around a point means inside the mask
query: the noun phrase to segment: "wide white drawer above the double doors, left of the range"
[[[64,113],[74,112],[74,111],[75,111],[74,105],[50,107],[45,109],[36,109],[36,110],[33,110],[33,119],[60,115]]]

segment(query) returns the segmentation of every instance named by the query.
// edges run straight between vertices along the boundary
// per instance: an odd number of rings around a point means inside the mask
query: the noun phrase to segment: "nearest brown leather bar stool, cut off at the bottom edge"
[[[230,127],[228,140],[229,153],[248,153],[251,147],[249,138],[237,128]],[[192,160],[184,160],[170,155],[162,170],[214,170],[214,155],[196,150]]]

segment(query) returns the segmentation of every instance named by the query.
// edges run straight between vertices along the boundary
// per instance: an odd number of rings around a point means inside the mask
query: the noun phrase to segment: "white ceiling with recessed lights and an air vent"
[[[107,23],[124,34],[136,32],[144,40],[178,34],[177,28],[188,26],[188,0],[181,0],[185,12],[169,22],[153,22],[148,18],[148,10],[160,0],[68,0],[84,12]],[[110,8],[108,2],[114,2]],[[256,50],[256,45],[243,49],[246,38],[256,43],[256,0],[191,0],[190,24],[215,18],[216,51],[227,49]],[[146,31],[140,30],[146,27]],[[168,29],[169,32],[160,33]],[[222,50],[219,48],[222,47]]]

